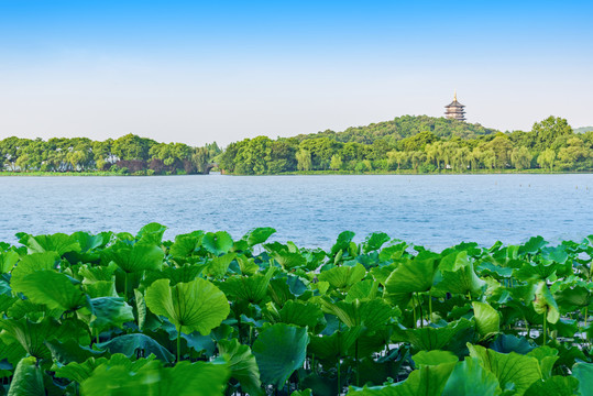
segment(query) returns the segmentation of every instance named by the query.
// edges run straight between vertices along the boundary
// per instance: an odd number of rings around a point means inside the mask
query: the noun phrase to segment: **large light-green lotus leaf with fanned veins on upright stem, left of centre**
[[[165,316],[184,333],[199,331],[207,336],[230,312],[224,294],[202,278],[173,287],[169,279],[158,279],[146,289],[145,300],[151,311]]]

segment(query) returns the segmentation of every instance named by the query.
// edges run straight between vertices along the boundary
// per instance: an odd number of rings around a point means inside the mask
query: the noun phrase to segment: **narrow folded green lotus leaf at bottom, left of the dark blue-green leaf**
[[[237,339],[220,340],[218,350],[229,364],[231,377],[239,381],[243,392],[254,396],[264,394],[257,362],[248,345],[242,345]]]

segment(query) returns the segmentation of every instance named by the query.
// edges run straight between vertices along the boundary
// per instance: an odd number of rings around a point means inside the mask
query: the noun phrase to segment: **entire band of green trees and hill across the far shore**
[[[531,131],[404,116],[343,132],[257,136],[191,147],[128,134],[0,141],[0,175],[461,174],[593,172],[593,128],[549,117]]]

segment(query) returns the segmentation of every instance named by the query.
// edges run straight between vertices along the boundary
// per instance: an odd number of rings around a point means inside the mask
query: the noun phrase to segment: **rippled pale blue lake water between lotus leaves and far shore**
[[[593,175],[0,177],[0,241],[14,233],[135,233],[165,238],[273,227],[274,240],[332,245],[344,230],[444,249],[593,233]]]

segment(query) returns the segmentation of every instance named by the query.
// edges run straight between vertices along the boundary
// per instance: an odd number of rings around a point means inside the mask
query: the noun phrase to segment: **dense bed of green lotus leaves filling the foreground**
[[[440,253],[195,231],[0,244],[8,395],[590,395],[593,235]]]

